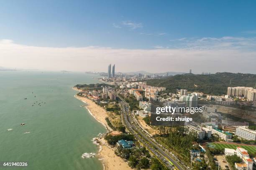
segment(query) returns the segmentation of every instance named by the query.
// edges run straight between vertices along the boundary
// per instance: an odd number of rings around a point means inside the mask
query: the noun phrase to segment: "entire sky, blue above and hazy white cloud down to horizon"
[[[256,1],[0,0],[0,66],[256,74]]]

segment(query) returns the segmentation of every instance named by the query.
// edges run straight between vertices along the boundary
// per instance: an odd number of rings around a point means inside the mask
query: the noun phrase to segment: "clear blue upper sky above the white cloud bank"
[[[0,39],[47,47],[180,47],[181,38],[254,37],[256,1],[2,1]]]

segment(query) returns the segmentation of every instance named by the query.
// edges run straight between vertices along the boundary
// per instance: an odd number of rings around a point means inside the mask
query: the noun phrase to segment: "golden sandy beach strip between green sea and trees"
[[[81,92],[81,90],[78,90],[75,87],[73,87],[73,90]],[[90,99],[87,99],[86,97],[80,97],[77,95],[74,95],[74,97],[87,104],[87,106],[84,107],[86,107],[90,115],[92,115],[98,122],[104,125],[104,127],[107,129],[107,133],[113,131],[105,120],[105,117],[108,117],[108,113],[105,109]],[[131,170],[131,168],[128,166],[128,163],[115,155],[114,149],[111,148],[103,138],[99,137],[98,141],[100,142],[100,149],[98,151],[97,157],[102,162],[104,170]]]

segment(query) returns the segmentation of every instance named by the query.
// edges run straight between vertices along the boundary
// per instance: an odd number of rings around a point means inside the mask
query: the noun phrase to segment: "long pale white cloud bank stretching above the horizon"
[[[256,50],[236,48],[217,38],[220,48],[203,47],[212,39],[195,40],[197,44],[179,49],[114,49],[110,47],[35,47],[0,40],[0,61],[3,67],[39,70],[107,71],[115,63],[116,72],[145,70],[148,72],[245,72],[256,73]],[[231,38],[232,40],[236,38]],[[230,40],[230,38],[228,38]],[[237,42],[238,40],[236,40]],[[243,40],[244,41],[244,40]],[[240,44],[243,43],[240,42]],[[202,43],[203,42],[203,43]],[[226,44],[225,44],[226,43]],[[244,42],[248,45],[248,42]],[[197,46],[198,45],[198,46]],[[226,48],[225,48],[226,46]],[[233,47],[233,48],[231,48]],[[163,49],[164,48],[164,49]]]

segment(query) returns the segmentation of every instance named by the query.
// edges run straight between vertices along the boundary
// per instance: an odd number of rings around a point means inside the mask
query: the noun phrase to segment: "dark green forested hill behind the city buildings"
[[[228,87],[246,86],[256,88],[256,75],[230,72],[217,72],[210,75],[182,74],[148,80],[147,84],[166,87],[168,92],[187,89],[188,91],[223,95],[227,94]]]

